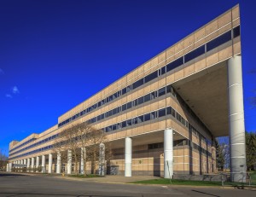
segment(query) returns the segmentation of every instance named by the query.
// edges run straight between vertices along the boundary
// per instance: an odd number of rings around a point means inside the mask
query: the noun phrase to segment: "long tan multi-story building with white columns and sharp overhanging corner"
[[[49,112],[50,113],[50,112]],[[9,169],[61,173],[55,138],[90,122],[107,133],[118,174],[172,177],[216,171],[215,137],[230,135],[234,180],[246,171],[239,5],[61,115],[9,144]],[[64,161],[62,161],[63,163]],[[72,166],[65,165],[68,173]]]

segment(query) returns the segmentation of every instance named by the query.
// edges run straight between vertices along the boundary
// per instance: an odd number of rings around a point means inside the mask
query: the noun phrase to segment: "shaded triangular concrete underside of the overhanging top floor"
[[[227,81],[227,61],[222,61],[172,84],[215,137],[229,135]]]

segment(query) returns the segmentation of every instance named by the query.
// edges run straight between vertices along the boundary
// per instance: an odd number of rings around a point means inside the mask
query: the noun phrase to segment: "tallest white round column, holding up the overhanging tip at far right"
[[[230,162],[233,182],[246,181],[245,125],[241,77],[241,56],[228,61]]]

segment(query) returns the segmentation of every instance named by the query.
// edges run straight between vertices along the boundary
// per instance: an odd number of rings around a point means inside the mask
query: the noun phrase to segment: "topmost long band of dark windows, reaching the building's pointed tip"
[[[218,38],[214,38],[210,42],[202,45],[201,47],[198,47],[197,49],[190,51],[188,54],[183,55],[182,57],[178,58],[177,60],[172,61],[171,63],[167,64],[165,67],[161,67],[159,70],[148,74],[148,76],[137,80],[137,82],[125,87],[123,90],[119,90],[118,92],[115,92],[113,95],[108,96],[107,98],[103,99],[102,101],[99,101],[96,104],[84,109],[82,112],[73,115],[73,117],[66,119],[65,121],[61,122],[58,126],[61,127],[62,125],[66,125],[69,122],[73,121],[74,119],[78,119],[80,116],[84,116],[84,114],[90,113],[97,107],[101,107],[102,105],[108,103],[109,101],[113,101],[114,99],[118,98],[119,96],[123,96],[126,93],[130,92],[131,90],[135,90],[138,87],[140,87],[141,85],[146,84],[149,81],[152,81],[154,78],[158,78],[161,75],[165,74],[166,72],[169,72],[172,69],[179,67],[179,66],[183,65],[184,63],[191,61],[191,60],[195,59],[196,57],[199,57],[200,55],[203,55],[212,49],[217,48],[221,44],[230,41],[232,39],[232,31],[233,31],[233,38],[238,37],[240,35],[240,26],[236,26],[233,30],[231,30],[229,32],[225,32],[224,34],[220,35]]]

